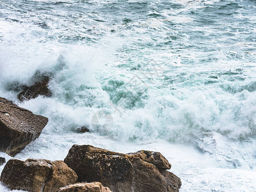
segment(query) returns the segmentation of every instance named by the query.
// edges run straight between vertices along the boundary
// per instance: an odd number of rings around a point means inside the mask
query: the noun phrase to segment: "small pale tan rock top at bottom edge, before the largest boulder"
[[[102,186],[100,182],[80,182],[60,188],[57,192],[111,192],[109,188]]]

